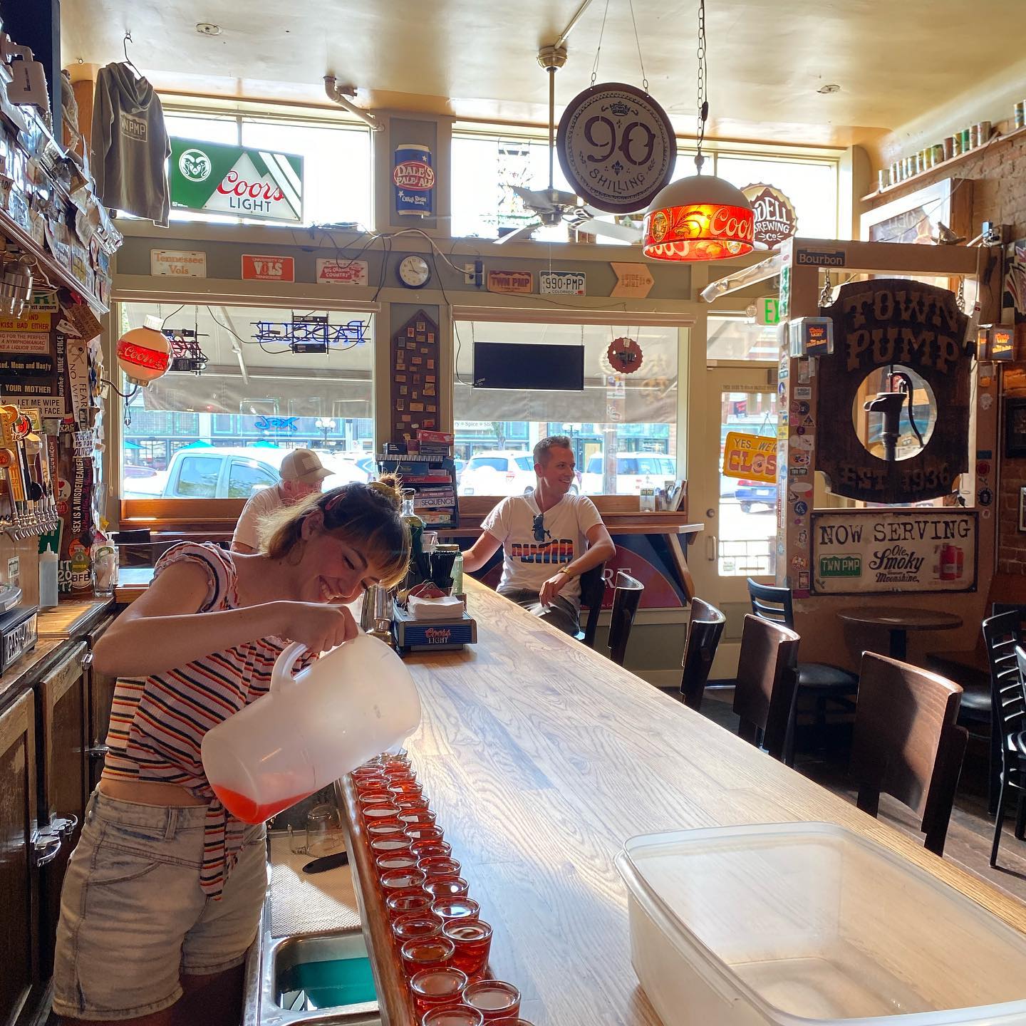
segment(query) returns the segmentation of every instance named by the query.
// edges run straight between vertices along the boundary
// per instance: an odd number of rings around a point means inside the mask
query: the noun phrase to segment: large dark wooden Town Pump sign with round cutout
[[[816,468],[830,490],[895,504],[949,495],[969,469],[972,366],[965,349],[968,318],[954,293],[916,281],[877,278],[843,285],[824,313],[833,319],[834,352],[821,357],[817,368]],[[852,408],[866,377],[892,366],[910,367],[926,381],[937,401],[937,420],[917,453],[887,462],[859,440]],[[904,430],[907,405],[901,423]]]

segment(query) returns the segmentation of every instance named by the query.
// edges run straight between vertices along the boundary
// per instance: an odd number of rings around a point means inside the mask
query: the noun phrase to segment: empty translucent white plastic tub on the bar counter
[[[1026,1026],[1026,938],[841,827],[650,834],[617,867],[666,1026]]]

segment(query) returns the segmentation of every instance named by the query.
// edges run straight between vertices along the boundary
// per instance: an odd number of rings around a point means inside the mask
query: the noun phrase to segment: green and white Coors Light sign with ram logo
[[[171,140],[171,206],[267,221],[303,221],[303,158]]]

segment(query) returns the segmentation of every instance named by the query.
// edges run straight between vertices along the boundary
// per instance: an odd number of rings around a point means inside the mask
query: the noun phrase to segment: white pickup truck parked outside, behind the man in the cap
[[[249,499],[261,488],[278,483],[278,467],[285,449],[251,446],[186,446],[171,457],[167,470],[152,477],[126,477],[125,499]],[[367,475],[351,460],[319,452],[332,471],[324,489],[349,481],[366,481]]]

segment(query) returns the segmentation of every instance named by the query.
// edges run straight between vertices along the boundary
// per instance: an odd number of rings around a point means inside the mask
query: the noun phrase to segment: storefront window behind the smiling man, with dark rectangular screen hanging
[[[568,435],[577,490],[638,495],[682,476],[677,467],[677,352],[680,329],[458,321],[453,416],[461,495],[519,495],[535,483],[531,448]],[[606,350],[635,340],[641,365],[618,373]],[[584,346],[584,390],[475,388],[474,346]]]

